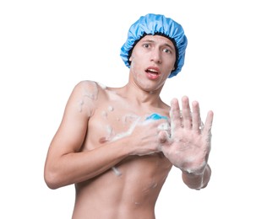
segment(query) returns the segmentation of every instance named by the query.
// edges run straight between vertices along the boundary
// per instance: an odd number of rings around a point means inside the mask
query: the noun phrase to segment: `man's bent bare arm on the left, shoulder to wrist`
[[[68,99],[63,120],[46,156],[44,176],[51,189],[90,179],[128,156],[126,147],[117,147],[117,142],[80,152],[94,110],[95,86],[88,82],[79,83]],[[118,144],[127,145],[127,139],[123,138]]]

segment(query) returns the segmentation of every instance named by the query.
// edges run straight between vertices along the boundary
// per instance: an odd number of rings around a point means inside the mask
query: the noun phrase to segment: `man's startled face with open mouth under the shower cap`
[[[167,77],[174,70],[175,46],[161,35],[145,35],[134,46],[130,74],[137,86],[154,92],[163,87]]]

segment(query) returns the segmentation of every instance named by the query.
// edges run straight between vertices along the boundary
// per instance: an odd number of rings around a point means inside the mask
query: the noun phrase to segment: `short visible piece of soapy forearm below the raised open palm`
[[[187,172],[182,172],[182,180],[184,184],[187,184],[190,189],[200,190],[207,186],[210,181],[211,169],[207,164],[204,168],[203,174],[188,174]]]

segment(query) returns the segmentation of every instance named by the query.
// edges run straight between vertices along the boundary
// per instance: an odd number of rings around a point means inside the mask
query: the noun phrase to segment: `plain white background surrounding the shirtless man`
[[[71,218],[74,186],[50,190],[43,179],[49,143],[76,83],[127,82],[120,48],[146,13],[175,19],[188,36],[185,66],[162,99],[186,94],[199,100],[204,118],[215,112],[209,186],[189,190],[173,168],[156,217],[255,218],[253,2],[1,1],[0,218]]]

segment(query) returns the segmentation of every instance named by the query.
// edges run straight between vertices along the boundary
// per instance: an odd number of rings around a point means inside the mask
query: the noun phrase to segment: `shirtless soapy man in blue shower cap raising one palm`
[[[154,219],[155,202],[172,166],[189,188],[210,180],[213,112],[204,126],[199,103],[180,108],[160,98],[166,79],[181,71],[187,38],[182,26],[159,14],[135,22],[121,56],[130,68],[123,88],[78,83],[46,158],[51,189],[75,184],[73,219]]]

